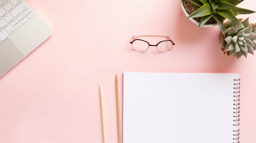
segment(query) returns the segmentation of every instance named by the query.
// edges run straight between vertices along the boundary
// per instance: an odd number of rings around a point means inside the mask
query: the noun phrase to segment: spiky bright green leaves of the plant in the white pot
[[[244,0],[188,0],[192,4],[199,6],[193,14],[187,18],[202,17],[199,22],[198,28],[203,26],[211,17],[213,17],[221,31],[224,30],[223,21],[225,18],[232,20],[236,23],[240,21],[236,18],[239,14],[251,14],[252,10],[236,7],[237,4]]]

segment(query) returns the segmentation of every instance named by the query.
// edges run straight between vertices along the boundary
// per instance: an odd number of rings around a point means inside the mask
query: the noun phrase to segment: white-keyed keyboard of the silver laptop
[[[0,44],[33,16],[21,0],[0,0]]]

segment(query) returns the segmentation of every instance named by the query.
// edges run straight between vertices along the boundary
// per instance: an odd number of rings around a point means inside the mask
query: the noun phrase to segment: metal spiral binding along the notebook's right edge
[[[234,142],[233,143],[239,143],[239,128],[238,128],[238,126],[239,126],[239,121],[240,121],[240,115],[239,115],[239,113],[240,113],[240,79],[234,79],[234,81],[235,81],[235,83],[234,83],[234,107],[233,107],[233,109],[234,109],[234,111],[233,111],[233,126],[234,126],[234,130],[233,130],[233,132],[234,132],[234,134],[233,134],[233,140],[234,140]]]

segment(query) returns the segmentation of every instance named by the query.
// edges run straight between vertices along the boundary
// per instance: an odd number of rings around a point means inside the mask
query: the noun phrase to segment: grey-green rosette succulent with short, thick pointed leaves
[[[238,19],[242,21],[242,19]],[[224,54],[240,58],[247,57],[247,53],[254,54],[256,50],[256,24],[250,24],[249,18],[241,23],[227,21],[224,23],[224,31],[220,32],[219,44]]]

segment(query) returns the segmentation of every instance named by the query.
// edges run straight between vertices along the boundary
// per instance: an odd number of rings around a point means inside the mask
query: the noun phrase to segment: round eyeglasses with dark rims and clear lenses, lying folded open
[[[167,40],[157,42],[155,45],[149,44],[149,42],[137,39],[139,37],[165,37]],[[131,38],[131,46],[133,50],[137,52],[145,52],[149,49],[149,46],[156,46],[156,49],[158,52],[168,52],[172,49],[172,46],[175,45],[175,43],[172,41],[170,36],[168,35],[134,35]]]

